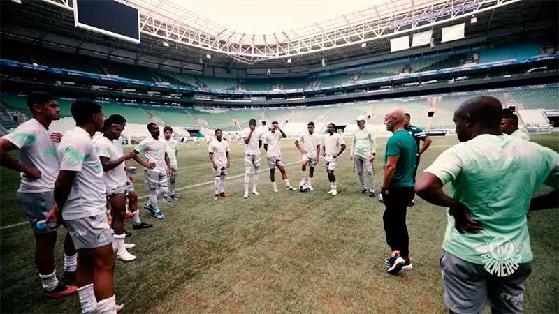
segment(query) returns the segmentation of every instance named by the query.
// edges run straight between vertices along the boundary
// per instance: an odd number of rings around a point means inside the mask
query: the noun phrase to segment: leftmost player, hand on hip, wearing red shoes
[[[47,297],[64,297],[75,293],[78,288],[59,283],[54,256],[57,232],[45,228],[43,223],[45,213],[56,206],[52,196],[59,171],[55,142],[60,142],[61,134],[49,135],[48,127],[52,121],[60,119],[60,110],[54,96],[38,92],[29,94],[27,106],[33,118],[0,139],[0,165],[21,172],[17,201],[35,234],[35,265],[41,277],[43,292]],[[8,154],[16,149],[19,161]],[[65,281],[75,281],[77,264],[78,255],[70,236],[66,234]]]

